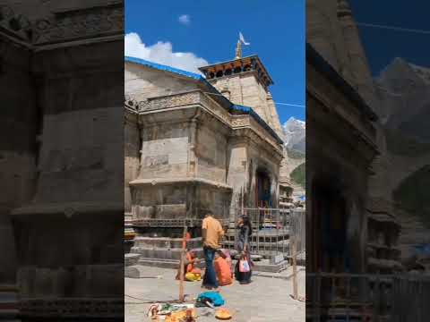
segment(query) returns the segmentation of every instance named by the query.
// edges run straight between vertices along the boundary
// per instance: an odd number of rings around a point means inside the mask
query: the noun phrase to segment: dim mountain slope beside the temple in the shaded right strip
[[[430,69],[396,58],[374,84],[380,102],[375,112],[382,120],[387,143],[394,212],[402,225],[400,242],[428,243]]]

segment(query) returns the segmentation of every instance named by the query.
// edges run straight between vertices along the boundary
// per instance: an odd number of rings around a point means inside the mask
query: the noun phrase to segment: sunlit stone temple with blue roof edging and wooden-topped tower
[[[180,71],[125,58],[125,222],[141,263],[177,260],[183,227],[200,247],[211,209],[278,208],[283,140],[258,55]]]

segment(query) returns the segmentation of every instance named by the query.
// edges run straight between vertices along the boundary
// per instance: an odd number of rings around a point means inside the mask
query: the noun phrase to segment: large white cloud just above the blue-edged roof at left
[[[159,41],[157,44],[146,46],[135,32],[125,35],[125,55],[197,73],[201,73],[198,67],[209,64],[193,53],[174,53],[170,42]]]

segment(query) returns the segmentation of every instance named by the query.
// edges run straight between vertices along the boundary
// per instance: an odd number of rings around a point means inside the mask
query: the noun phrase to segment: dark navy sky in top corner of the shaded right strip
[[[350,0],[358,23],[371,23],[415,30],[430,30],[429,1]],[[358,26],[372,73],[379,74],[395,57],[430,67],[430,33],[419,34]]]

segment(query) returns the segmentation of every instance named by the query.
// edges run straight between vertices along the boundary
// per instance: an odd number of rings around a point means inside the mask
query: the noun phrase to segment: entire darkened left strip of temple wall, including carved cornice
[[[2,1],[0,91],[0,317],[121,320],[123,3]]]

